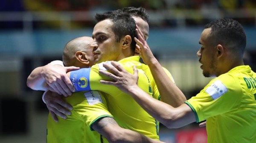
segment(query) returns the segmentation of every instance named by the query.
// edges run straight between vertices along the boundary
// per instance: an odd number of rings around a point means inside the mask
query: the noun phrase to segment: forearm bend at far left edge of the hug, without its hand
[[[26,84],[32,90],[47,90],[47,83],[41,74],[42,70],[43,67],[35,68],[27,78]]]

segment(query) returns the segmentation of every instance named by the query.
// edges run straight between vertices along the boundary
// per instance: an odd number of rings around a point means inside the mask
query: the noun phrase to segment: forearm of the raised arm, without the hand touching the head
[[[157,88],[161,95],[161,101],[173,107],[179,107],[184,103],[184,101],[186,101],[185,95],[167,76],[157,59],[151,61],[152,63],[148,64],[148,66],[157,84]]]

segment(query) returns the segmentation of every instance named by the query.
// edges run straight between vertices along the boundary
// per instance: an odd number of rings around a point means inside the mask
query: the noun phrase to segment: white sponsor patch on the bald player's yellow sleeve
[[[99,95],[98,91],[89,91],[87,93],[84,93],[84,97],[86,98],[89,105],[102,103],[102,98]]]

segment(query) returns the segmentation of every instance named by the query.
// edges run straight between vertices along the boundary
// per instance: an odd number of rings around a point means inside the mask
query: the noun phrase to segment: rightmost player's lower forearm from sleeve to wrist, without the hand
[[[131,95],[149,115],[157,121],[160,121],[160,123],[163,123],[167,128],[179,128],[196,121],[194,112],[187,104],[182,104],[174,108],[169,104],[152,98],[138,86],[131,87],[128,90],[128,94]]]

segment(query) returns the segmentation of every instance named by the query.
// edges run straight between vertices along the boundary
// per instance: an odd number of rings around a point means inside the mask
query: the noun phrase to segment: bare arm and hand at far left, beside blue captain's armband
[[[47,64],[35,68],[27,78],[27,86],[33,90],[51,90],[65,97],[71,95],[74,87],[66,73],[79,67],[63,67]]]

